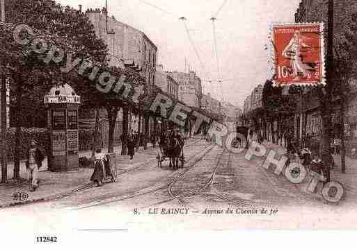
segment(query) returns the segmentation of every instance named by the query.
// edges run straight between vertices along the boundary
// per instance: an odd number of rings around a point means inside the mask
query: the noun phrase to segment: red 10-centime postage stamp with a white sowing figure
[[[324,84],[323,24],[273,24],[276,85]]]

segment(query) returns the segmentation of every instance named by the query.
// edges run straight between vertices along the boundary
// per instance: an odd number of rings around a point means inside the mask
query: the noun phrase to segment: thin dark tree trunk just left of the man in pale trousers
[[[16,91],[16,130],[15,130],[15,160],[14,160],[14,179],[19,179],[20,170],[20,137],[21,137],[21,109],[22,109],[22,87],[21,83],[18,82],[19,87]]]

